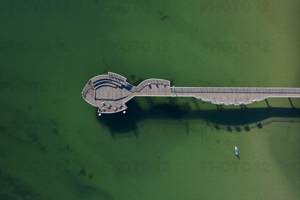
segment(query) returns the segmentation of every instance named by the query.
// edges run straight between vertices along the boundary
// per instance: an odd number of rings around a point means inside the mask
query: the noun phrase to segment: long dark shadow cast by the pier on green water
[[[142,97],[143,98],[143,97]],[[202,119],[212,128],[219,130],[220,128],[232,132],[249,131],[253,128],[261,129],[266,123],[262,121],[271,118],[282,118],[282,121],[289,122],[288,118],[300,118],[299,108],[239,108],[239,109],[217,109],[217,110],[191,110],[188,103],[177,104],[175,101],[163,104],[153,104],[148,98],[144,99],[148,102],[150,108],[142,109],[136,100],[131,99],[126,103],[127,112],[113,114],[104,114],[101,116],[95,115],[101,124],[102,128],[108,129],[113,138],[126,137],[128,134],[132,136],[132,132],[137,137],[138,130],[143,132],[149,130],[150,122],[146,120],[160,120],[171,123],[182,123],[189,132],[188,120]],[[171,98],[172,100],[172,98]],[[267,122],[270,123],[270,122]],[[151,129],[153,130],[153,129]]]

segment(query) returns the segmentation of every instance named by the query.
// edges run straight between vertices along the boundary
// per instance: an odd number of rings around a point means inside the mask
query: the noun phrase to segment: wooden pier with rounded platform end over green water
[[[134,96],[194,97],[218,105],[243,105],[268,97],[300,98],[300,88],[220,88],[170,87],[170,82],[148,79],[137,87],[126,78],[108,72],[88,81],[82,91],[83,99],[98,108],[99,113],[124,111],[125,103]]]

